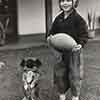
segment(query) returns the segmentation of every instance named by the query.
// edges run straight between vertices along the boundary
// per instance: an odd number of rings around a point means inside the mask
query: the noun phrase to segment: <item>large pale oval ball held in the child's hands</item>
[[[59,50],[71,50],[75,45],[76,41],[65,33],[58,33],[49,38],[50,44]]]

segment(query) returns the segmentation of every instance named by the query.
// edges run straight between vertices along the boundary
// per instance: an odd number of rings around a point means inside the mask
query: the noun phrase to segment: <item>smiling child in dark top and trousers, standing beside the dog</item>
[[[59,85],[59,82],[55,82],[59,87],[60,100],[65,100],[65,93],[69,88],[71,88],[72,100],[79,100],[80,96],[82,80],[80,73],[83,71],[81,68],[82,66],[80,66],[80,54],[81,49],[88,40],[88,27],[85,20],[75,9],[78,6],[78,3],[79,0],[59,0],[61,13],[55,18],[47,38],[47,41],[50,44],[51,39],[55,34],[66,33],[73,37],[77,42],[77,45],[73,47],[72,50],[60,52],[62,53],[62,62],[66,67],[66,78],[63,77],[62,79],[63,82],[65,82],[65,80],[66,82],[64,83],[64,88],[61,88],[62,91],[60,91],[61,86]],[[56,80],[55,77],[54,80]]]

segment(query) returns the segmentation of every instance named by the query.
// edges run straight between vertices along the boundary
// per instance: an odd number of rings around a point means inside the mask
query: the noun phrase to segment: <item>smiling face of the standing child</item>
[[[65,12],[70,12],[73,8],[73,2],[75,0],[61,0],[60,7]]]

